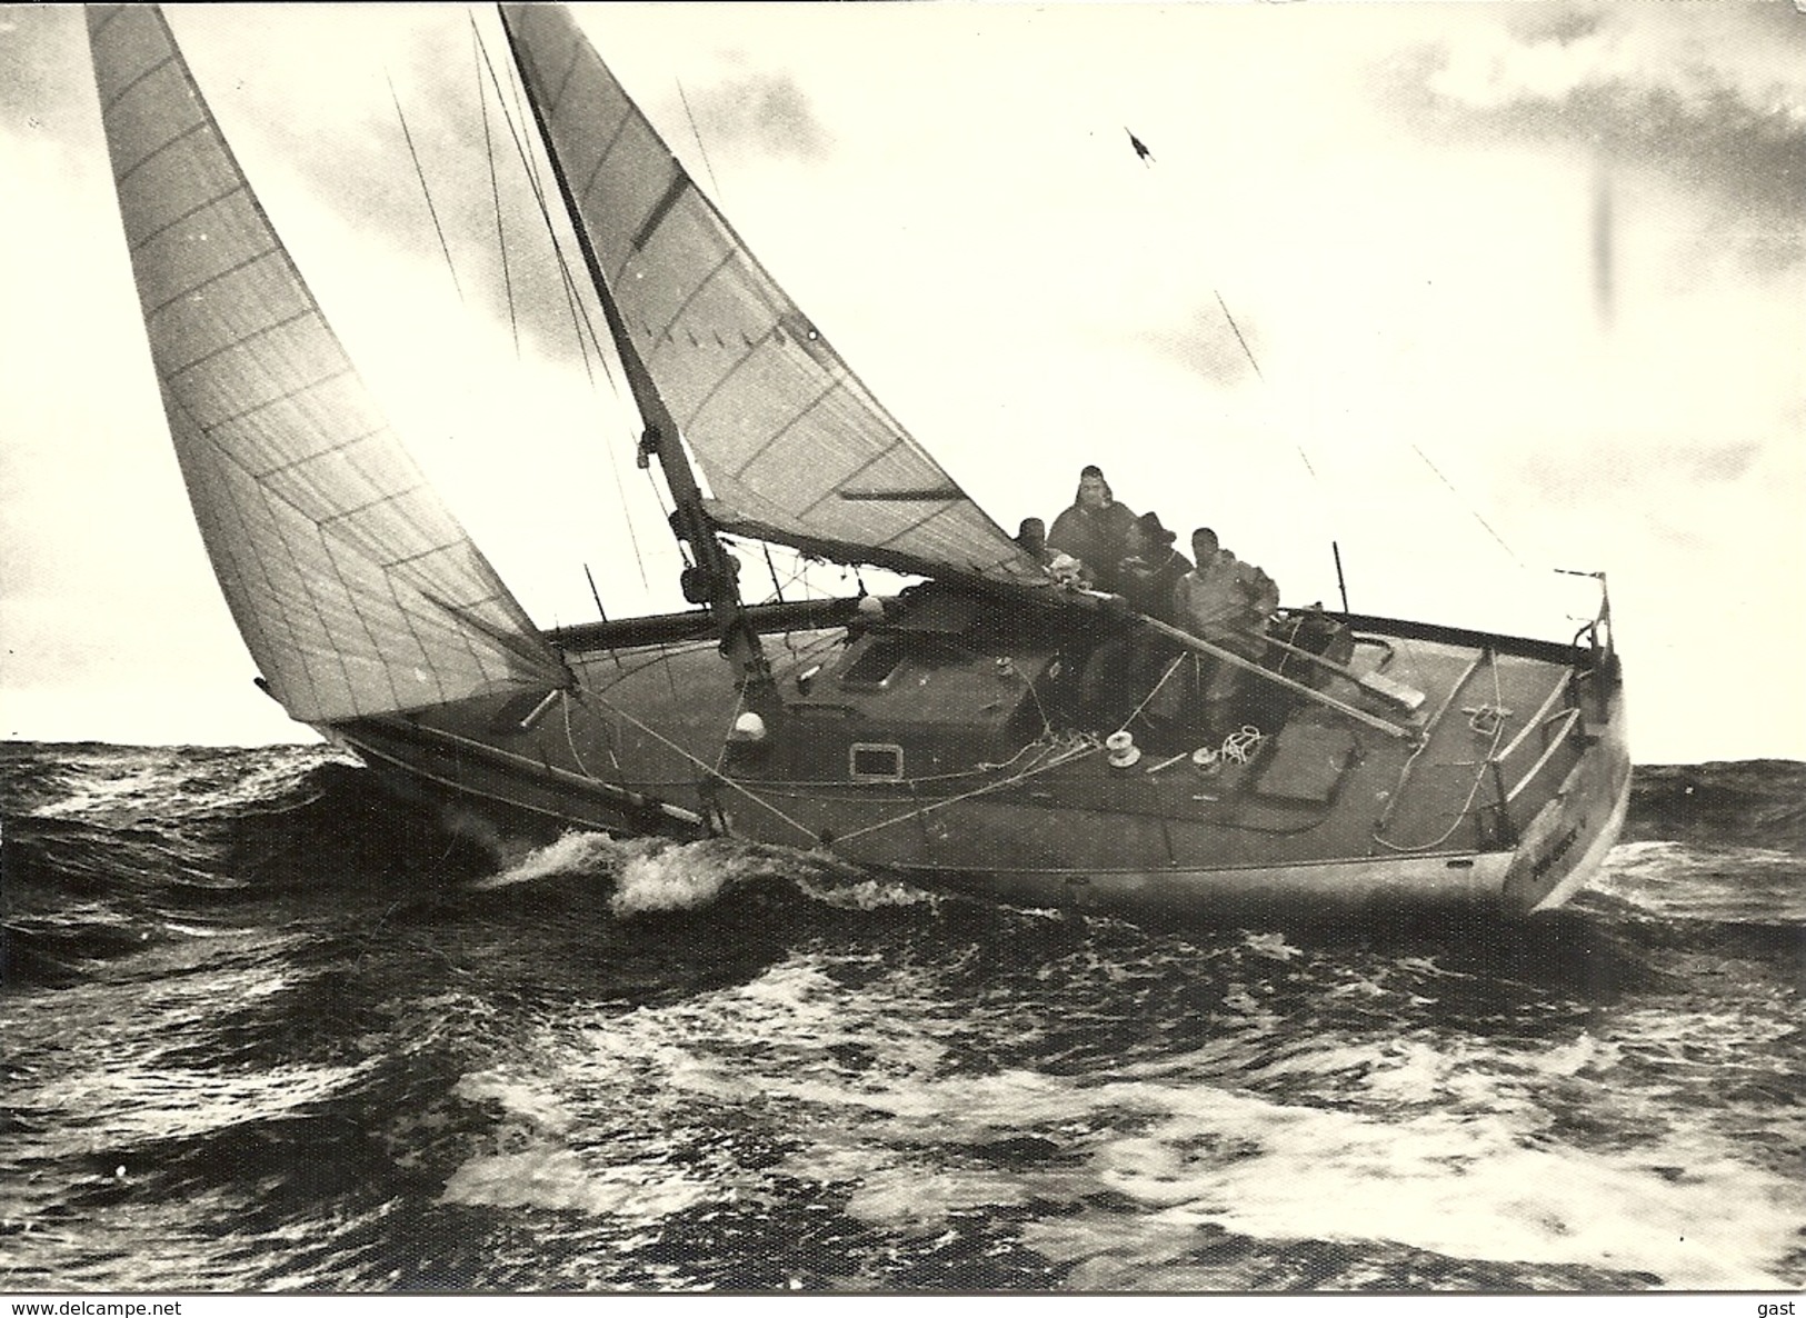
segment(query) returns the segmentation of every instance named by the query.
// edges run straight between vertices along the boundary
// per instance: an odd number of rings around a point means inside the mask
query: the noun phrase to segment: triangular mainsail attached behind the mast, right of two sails
[[[1047,585],[759,265],[560,5],[504,5],[625,330],[733,533],[925,576]]]

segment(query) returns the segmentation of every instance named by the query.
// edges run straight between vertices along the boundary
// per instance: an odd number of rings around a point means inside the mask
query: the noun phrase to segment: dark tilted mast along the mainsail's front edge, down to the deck
[[[506,14],[500,14],[500,18],[502,31],[507,34],[509,56],[529,87],[526,99],[533,107],[533,121],[540,130],[540,139],[549,143],[551,126],[545,123],[545,110],[540,107],[538,97],[531,94],[531,78],[522,61],[515,29],[509,25]],[[771,681],[771,664],[766,661],[759,632],[748,621],[746,603],[740,599],[739,562],[721,543],[721,538],[715,534],[715,522],[703,507],[703,487],[690,468],[690,455],[684,451],[677,419],[672,417],[665,397],[652,379],[652,372],[647,368],[645,357],[627,330],[627,321],[614,300],[614,291],[609,287],[609,276],[603,273],[601,260],[596,256],[594,244],[580,218],[576,195],[571,190],[571,179],[565,175],[563,162],[558,159],[558,152],[553,150],[547,150],[545,157],[551,161],[553,177],[558,181],[558,195],[563,199],[565,217],[571,220],[571,231],[576,235],[578,247],[583,253],[583,265],[589,269],[596,298],[601,302],[601,312],[609,321],[609,336],[614,339],[614,348],[621,357],[627,385],[634,394],[634,406],[647,426],[639,437],[639,466],[645,468],[652,459],[657,459],[659,471],[665,475],[665,486],[677,506],[672,513],[672,533],[686,542],[695,554],[695,567],[684,569],[683,574],[684,599],[708,605],[715,632],[721,637],[721,652],[739,670],[744,691],[749,697],[773,697],[777,688]]]

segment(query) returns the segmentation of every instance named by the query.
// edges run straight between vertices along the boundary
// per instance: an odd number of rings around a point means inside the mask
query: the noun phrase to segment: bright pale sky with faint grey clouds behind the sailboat
[[[576,348],[507,150],[491,188],[486,132],[511,130],[479,101],[471,14],[506,65],[493,13],[453,5],[170,22],[352,359],[533,617],[592,619],[585,565],[609,616],[677,608],[625,388]],[[1806,760],[1792,4],[580,22],[1004,527],[1051,520],[1098,462],[1288,605],[1340,601],[1335,545],[1356,610],[1566,639],[1598,589],[1555,569],[1604,571],[1638,762]],[[0,7],[0,737],[309,740],[251,677],[157,403],[81,13]]]

